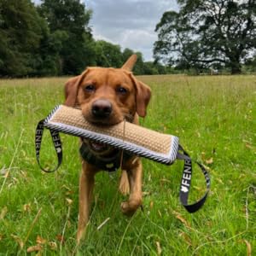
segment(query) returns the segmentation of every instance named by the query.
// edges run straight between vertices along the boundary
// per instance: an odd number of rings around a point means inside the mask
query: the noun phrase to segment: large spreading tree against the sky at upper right
[[[256,50],[255,0],[178,0],[179,12],[167,11],[156,25],[154,56],[181,68],[230,67]]]

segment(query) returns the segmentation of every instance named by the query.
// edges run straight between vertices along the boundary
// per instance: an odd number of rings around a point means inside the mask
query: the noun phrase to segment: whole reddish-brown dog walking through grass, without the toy
[[[145,117],[151,90],[138,81],[131,69],[137,55],[131,55],[122,68],[89,67],[81,75],[67,81],[65,104],[79,106],[84,118],[96,125],[114,125],[123,120],[138,124],[138,115]],[[82,140],[82,173],[79,182],[79,229],[81,240],[89,220],[90,200],[94,186],[94,176],[103,164],[111,166],[113,159],[121,162],[122,175],[119,190],[130,196],[121,204],[125,214],[136,212],[142,204],[143,166],[136,156],[119,154],[117,149],[103,143]],[[81,151],[80,148],[80,152]],[[83,150],[83,149],[82,149]],[[93,160],[88,159],[90,155]]]

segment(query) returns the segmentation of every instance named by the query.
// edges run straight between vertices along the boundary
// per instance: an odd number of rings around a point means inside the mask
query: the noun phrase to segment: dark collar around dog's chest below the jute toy
[[[86,160],[90,165],[96,166],[98,169],[108,172],[114,172],[119,169],[122,158],[122,151],[116,149],[110,157],[100,157],[90,150],[87,144],[82,143],[82,146],[79,148],[81,157],[83,160]],[[123,160],[131,159],[132,154],[123,152]]]

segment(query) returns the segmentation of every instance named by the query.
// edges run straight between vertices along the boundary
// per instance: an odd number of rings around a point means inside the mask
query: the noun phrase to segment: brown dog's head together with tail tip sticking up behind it
[[[98,125],[132,122],[136,113],[145,117],[151,90],[131,73],[136,60],[131,55],[121,68],[89,67],[69,79],[65,105],[79,106],[84,118]]]

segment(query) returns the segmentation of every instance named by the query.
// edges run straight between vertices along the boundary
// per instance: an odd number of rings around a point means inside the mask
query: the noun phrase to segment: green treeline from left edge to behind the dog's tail
[[[96,41],[89,26],[92,12],[79,0],[0,0],[0,76],[61,76],[87,66],[121,67],[134,53]],[[137,52],[134,73],[166,73]]]

